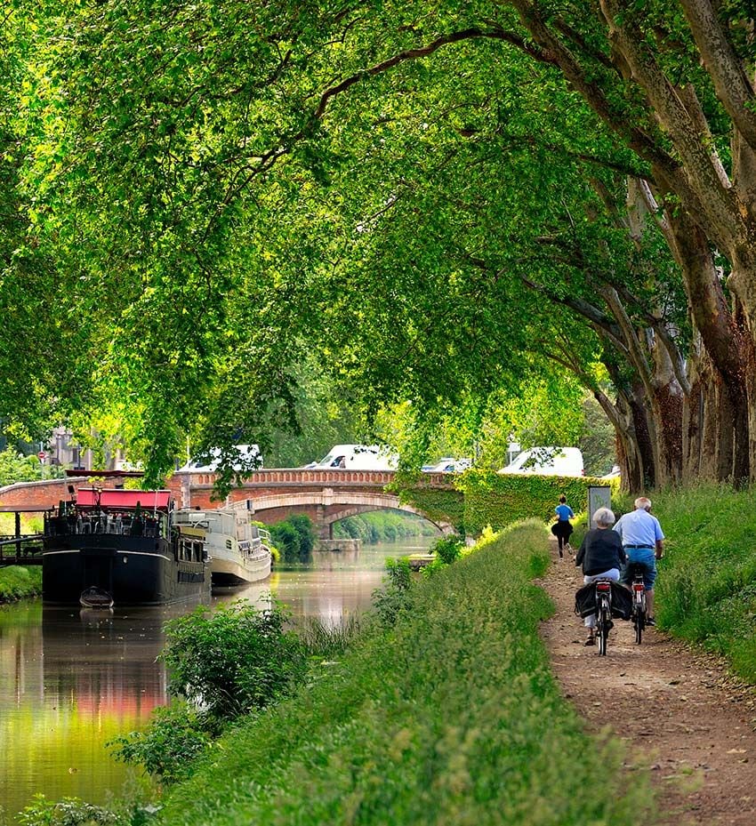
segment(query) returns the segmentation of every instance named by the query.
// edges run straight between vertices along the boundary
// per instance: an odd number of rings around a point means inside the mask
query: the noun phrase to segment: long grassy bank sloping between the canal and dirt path
[[[645,781],[583,734],[538,638],[545,540],[519,525],[422,581],[393,627],[226,734],[160,821],[638,822]]]

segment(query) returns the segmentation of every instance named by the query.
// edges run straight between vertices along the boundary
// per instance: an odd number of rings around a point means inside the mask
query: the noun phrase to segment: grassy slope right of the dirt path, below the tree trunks
[[[753,492],[701,485],[651,498],[667,537],[656,584],[660,625],[724,654],[756,685]]]

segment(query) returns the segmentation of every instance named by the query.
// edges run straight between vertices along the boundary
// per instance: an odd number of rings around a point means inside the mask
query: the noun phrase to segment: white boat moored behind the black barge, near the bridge
[[[213,586],[245,585],[269,575],[270,534],[253,525],[247,511],[182,509],[176,522],[205,529]]]

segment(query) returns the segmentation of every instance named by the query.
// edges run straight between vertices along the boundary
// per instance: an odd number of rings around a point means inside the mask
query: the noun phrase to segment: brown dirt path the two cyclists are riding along
[[[756,824],[756,693],[728,678],[718,658],[649,629],[636,646],[629,622],[615,621],[607,656],[583,646],[572,557],[557,559],[542,584],[557,605],[543,638],[562,691],[592,731],[611,725],[630,765],[650,766],[674,826]]]

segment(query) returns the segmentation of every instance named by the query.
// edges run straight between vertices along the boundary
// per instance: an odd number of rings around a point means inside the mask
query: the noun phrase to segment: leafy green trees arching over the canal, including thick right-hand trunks
[[[749,15],[20,0],[0,414],[157,477],[311,428],[320,381],[417,445],[564,444],[582,386],[629,486],[752,477]]]

